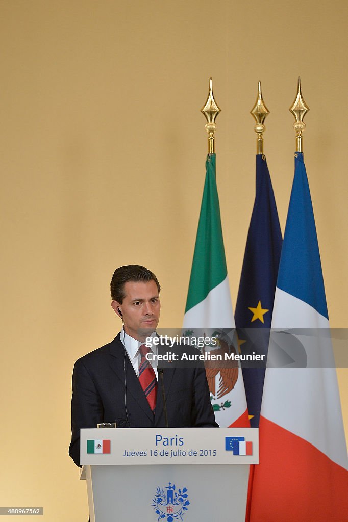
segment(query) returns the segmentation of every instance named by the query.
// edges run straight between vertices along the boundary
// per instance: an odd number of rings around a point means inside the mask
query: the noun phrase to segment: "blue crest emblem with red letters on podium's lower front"
[[[158,487],[156,494],[152,500],[151,505],[158,515],[157,522],[173,522],[174,520],[181,520],[188,510],[190,501],[188,500],[187,488],[176,489],[175,484],[169,484],[166,488]]]

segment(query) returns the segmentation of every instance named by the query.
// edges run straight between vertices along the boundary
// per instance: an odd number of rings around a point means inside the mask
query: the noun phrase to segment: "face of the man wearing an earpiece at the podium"
[[[112,301],[117,315],[122,313],[124,331],[127,335],[144,341],[157,328],[161,304],[155,281],[133,282],[124,285],[123,303]]]

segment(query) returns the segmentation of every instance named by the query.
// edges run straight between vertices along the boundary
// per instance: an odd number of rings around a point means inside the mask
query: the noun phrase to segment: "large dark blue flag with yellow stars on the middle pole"
[[[270,173],[265,156],[258,154],[256,196],[235,312],[242,353],[267,354],[281,250],[282,233]],[[241,331],[241,328],[247,330]],[[251,328],[258,330],[253,332]],[[258,428],[265,369],[243,367],[242,371],[249,415],[252,416],[250,425]]]

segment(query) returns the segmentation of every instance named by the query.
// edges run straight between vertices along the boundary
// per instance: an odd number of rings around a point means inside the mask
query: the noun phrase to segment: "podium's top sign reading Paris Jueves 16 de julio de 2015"
[[[89,429],[81,430],[80,458],[97,466],[259,464],[258,441],[257,428]]]

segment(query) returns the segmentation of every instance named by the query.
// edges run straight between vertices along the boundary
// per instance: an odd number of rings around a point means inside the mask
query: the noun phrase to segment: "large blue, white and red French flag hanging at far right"
[[[343,522],[348,519],[347,450],[331,340],[320,335],[329,329],[328,310],[307,174],[299,152],[274,299],[273,333],[274,329],[308,329],[308,335],[294,336],[307,365],[266,369],[260,464],[254,471],[247,520]],[[291,361],[292,352],[287,353]],[[270,341],[269,358],[271,354]],[[315,361],[322,361],[321,367],[311,364],[314,355]]]

